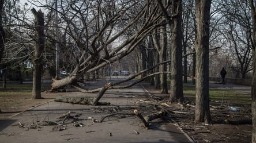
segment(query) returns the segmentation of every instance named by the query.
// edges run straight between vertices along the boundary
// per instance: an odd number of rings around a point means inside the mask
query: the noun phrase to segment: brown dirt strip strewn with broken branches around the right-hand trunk
[[[157,102],[168,103],[169,95],[144,86],[155,99],[158,98]],[[174,111],[169,113],[173,118],[168,118],[168,121],[182,129],[194,142],[251,142],[251,106],[235,105],[239,111],[231,111],[228,107],[228,103],[211,101],[210,114],[213,122],[210,125],[194,122],[195,103],[186,97],[183,105],[171,105],[165,107],[165,110]]]

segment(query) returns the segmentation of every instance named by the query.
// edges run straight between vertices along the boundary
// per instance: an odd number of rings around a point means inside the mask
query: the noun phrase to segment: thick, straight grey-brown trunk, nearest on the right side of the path
[[[195,0],[195,122],[212,122],[209,107],[209,22],[210,1]]]

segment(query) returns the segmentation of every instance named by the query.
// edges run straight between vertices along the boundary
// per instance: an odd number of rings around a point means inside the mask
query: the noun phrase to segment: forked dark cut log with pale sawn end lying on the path
[[[137,115],[138,118],[141,119],[141,121],[144,123],[144,126],[146,127],[146,129],[148,129],[149,122],[152,121],[153,119],[161,118],[165,114],[165,111],[160,111],[155,114],[146,115],[145,117],[143,117],[142,114],[139,113],[138,110],[134,110],[134,113],[135,113],[135,115]]]

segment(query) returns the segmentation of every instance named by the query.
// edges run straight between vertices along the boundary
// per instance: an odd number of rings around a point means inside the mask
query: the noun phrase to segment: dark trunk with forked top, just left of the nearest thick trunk
[[[170,102],[183,102],[182,83],[182,1],[175,0],[173,7],[175,17],[170,21],[171,27],[171,87]]]

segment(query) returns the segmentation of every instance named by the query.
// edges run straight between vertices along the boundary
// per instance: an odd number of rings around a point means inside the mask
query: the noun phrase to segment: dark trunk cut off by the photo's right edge
[[[251,134],[251,142],[256,143],[256,13],[255,5],[253,0],[250,0],[251,16],[253,18],[253,81],[251,87],[251,115],[253,119],[253,130]]]

